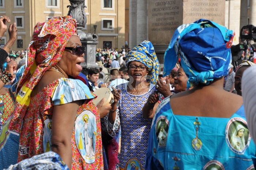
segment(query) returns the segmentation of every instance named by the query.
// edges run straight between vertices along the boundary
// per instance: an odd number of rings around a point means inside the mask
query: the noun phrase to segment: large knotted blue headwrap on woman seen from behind
[[[204,19],[179,26],[165,52],[163,76],[169,75],[175,67],[179,54],[188,76],[187,88],[226,76],[231,67],[232,33]]]

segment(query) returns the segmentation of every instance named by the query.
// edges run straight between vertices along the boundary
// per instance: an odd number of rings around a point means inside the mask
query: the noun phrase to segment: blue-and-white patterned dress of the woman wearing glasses
[[[152,119],[142,116],[142,108],[148,96],[155,90],[155,85],[150,84],[148,92],[143,95],[129,94],[127,85],[128,83],[124,83],[116,87],[121,90],[121,98],[114,124],[110,124],[108,117],[105,117],[105,122],[108,124],[110,136],[118,135],[121,124],[120,170],[144,170]]]

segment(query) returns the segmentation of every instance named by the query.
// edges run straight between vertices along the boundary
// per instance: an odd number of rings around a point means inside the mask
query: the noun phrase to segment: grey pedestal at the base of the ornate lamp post
[[[98,41],[81,41],[82,46],[86,47],[86,52],[84,54],[84,63],[81,63],[80,65],[83,68],[93,68],[98,67],[96,64],[96,44],[98,44]]]

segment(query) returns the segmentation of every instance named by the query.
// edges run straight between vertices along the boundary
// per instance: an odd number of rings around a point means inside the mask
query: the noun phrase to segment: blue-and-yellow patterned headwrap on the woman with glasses
[[[125,56],[126,66],[131,61],[139,61],[146,65],[149,69],[148,75],[150,75],[150,77],[147,76],[146,78],[147,83],[157,83],[159,62],[155,54],[155,49],[150,41],[143,41]]]

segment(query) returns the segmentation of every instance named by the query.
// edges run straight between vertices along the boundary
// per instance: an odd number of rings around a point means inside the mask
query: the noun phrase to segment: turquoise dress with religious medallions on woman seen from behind
[[[173,114],[167,97],[153,118],[145,167],[254,170],[255,153],[244,105],[230,118],[182,116]]]

